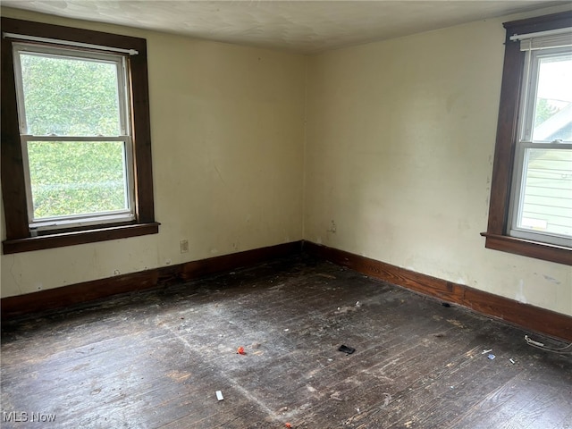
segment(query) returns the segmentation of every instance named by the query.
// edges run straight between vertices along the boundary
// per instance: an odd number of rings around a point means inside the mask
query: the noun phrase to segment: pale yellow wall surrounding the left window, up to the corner
[[[2,13],[147,38],[162,223],[157,235],[2,255],[2,297],[302,239],[305,56]]]

